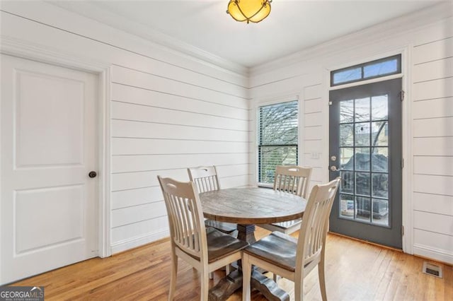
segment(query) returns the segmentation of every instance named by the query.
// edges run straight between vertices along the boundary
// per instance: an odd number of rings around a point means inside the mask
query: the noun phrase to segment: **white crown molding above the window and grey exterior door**
[[[420,27],[453,16],[452,6],[453,2],[447,1],[430,8],[424,8],[420,11],[394,18],[393,20],[384,23],[379,23],[378,25],[373,25],[364,30],[338,37],[314,47],[302,49],[299,52],[294,52],[294,54],[275,59],[267,64],[252,67],[249,69],[249,74],[251,76],[257,76],[285,66],[298,64],[302,61],[309,61],[310,59],[336,54],[338,53],[338,49],[351,49],[359,45],[382,40],[389,37],[389,35],[413,32]]]

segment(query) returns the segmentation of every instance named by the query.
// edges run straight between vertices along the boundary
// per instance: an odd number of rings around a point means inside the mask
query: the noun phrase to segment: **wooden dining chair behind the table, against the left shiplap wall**
[[[195,183],[198,193],[219,190],[219,178],[215,166],[190,167],[187,169],[190,181]],[[226,234],[237,237],[237,225],[235,223],[219,222],[217,220],[205,220],[207,227],[216,228]]]

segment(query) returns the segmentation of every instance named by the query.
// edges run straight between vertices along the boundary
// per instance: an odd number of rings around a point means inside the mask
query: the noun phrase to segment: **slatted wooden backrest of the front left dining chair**
[[[195,184],[157,177],[164,194],[172,242],[183,252],[207,261],[205,222]]]

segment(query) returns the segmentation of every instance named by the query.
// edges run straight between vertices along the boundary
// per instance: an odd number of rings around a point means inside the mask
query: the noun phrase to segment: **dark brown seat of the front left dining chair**
[[[209,263],[238,252],[248,246],[248,242],[238,240],[214,228],[206,228],[206,236]]]

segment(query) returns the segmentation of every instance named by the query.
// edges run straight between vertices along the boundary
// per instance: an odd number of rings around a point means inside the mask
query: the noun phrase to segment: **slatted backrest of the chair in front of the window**
[[[306,198],[311,178],[311,167],[279,165],[275,167],[274,189]]]

